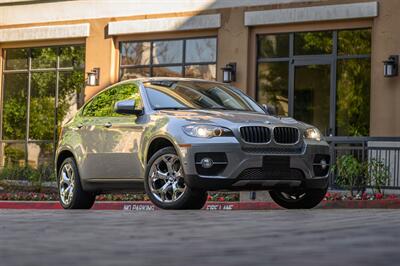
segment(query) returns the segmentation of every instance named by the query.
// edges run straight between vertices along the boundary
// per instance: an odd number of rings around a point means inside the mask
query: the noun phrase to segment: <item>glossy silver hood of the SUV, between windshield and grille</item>
[[[221,126],[231,124],[265,124],[265,125],[292,125],[305,127],[306,124],[290,117],[279,117],[257,112],[229,111],[229,110],[162,110],[160,114],[170,118],[182,119],[187,122],[211,123]]]

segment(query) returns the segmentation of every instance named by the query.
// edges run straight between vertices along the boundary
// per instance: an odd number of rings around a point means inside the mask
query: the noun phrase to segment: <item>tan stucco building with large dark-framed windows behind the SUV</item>
[[[0,166],[50,162],[60,125],[109,84],[221,81],[229,63],[232,85],[326,135],[399,136],[383,63],[399,14],[398,0],[2,0]]]

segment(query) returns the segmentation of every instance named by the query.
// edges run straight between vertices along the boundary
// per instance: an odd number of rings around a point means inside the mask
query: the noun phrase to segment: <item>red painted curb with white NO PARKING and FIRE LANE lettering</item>
[[[323,201],[317,207],[320,209],[400,209],[400,199],[394,200],[352,200]],[[0,201],[0,209],[25,210],[60,210],[56,201]],[[123,202],[99,201],[93,210],[127,210],[154,211],[158,208],[148,201]],[[207,202],[205,210],[278,210],[282,209],[273,202]]]

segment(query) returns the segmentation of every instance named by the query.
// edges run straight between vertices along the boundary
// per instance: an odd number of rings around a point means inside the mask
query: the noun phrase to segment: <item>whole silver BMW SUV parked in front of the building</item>
[[[284,208],[312,208],[326,193],[329,163],[317,128],[269,115],[237,88],[149,78],[88,101],[63,127],[55,165],[66,209],[143,189],[162,209],[200,209],[217,190],[269,190]]]

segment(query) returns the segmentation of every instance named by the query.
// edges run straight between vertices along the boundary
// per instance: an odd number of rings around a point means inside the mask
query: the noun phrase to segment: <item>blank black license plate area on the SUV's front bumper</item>
[[[290,178],[290,157],[289,156],[264,156],[263,172],[268,179],[289,179]]]

